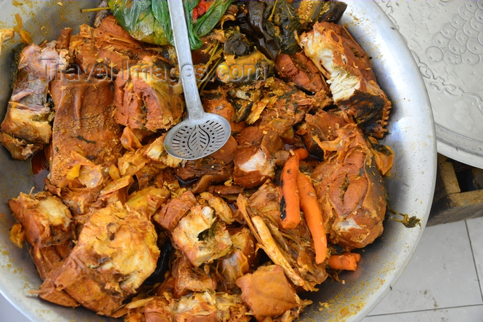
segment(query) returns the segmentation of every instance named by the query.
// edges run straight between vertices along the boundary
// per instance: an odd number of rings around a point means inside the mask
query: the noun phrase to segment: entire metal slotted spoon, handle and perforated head
[[[168,8],[188,117],[168,131],[164,148],[173,157],[196,160],[219,150],[228,141],[231,127],[224,117],[204,112],[191,59],[183,1],[168,1]]]

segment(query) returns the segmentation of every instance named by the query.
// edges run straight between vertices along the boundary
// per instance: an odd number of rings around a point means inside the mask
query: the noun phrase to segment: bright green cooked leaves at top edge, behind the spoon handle
[[[191,49],[203,46],[199,37],[208,34],[233,0],[215,0],[193,23],[193,9],[199,0],[184,0]],[[166,0],[109,0],[108,5],[119,24],[132,37],[155,45],[173,44],[171,21]]]

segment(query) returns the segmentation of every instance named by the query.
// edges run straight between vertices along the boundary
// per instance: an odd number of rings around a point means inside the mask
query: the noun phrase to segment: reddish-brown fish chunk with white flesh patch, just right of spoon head
[[[233,181],[245,188],[255,188],[275,177],[275,157],[284,143],[273,130],[249,127],[237,135],[238,148],[233,161]]]

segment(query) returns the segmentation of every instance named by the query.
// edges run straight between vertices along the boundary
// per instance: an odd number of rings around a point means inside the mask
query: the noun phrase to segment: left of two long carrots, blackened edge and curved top
[[[288,157],[282,174],[280,185],[282,194],[280,198],[280,218],[282,227],[286,229],[296,228],[300,222],[300,200],[299,190],[297,189],[297,174],[299,173],[299,163],[301,159],[308,157],[305,149],[298,149]]]

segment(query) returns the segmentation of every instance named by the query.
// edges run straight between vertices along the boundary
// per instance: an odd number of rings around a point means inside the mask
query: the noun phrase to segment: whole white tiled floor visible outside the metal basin
[[[406,270],[362,322],[483,322],[483,217],[428,227]],[[27,322],[0,296],[0,321]]]

